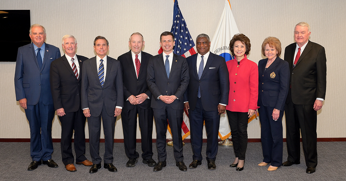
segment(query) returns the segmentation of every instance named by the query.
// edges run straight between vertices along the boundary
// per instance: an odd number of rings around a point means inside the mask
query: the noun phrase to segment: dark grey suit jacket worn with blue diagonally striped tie
[[[89,108],[90,114],[101,114],[103,102],[109,116],[114,116],[116,106],[123,107],[123,87],[120,62],[107,56],[106,79],[103,88],[98,76],[96,56],[83,62],[82,70],[82,109]]]

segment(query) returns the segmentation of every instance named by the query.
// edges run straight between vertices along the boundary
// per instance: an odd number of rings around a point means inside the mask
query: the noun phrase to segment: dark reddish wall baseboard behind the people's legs
[[[232,139],[229,139],[232,141]],[[53,143],[60,143],[60,138],[53,138]],[[172,141],[166,139],[166,142]],[[219,139],[221,141],[221,139]],[[300,142],[302,139],[300,138]],[[30,138],[0,138],[0,142],[30,142]],[[73,142],[73,139],[72,139]],[[85,139],[85,142],[89,143],[89,139]],[[101,143],[104,143],[104,139],[100,139]],[[137,143],[141,143],[141,139],[136,139]],[[191,143],[191,139],[184,139],[185,143]],[[248,138],[248,143],[261,142],[261,138]],[[283,138],[283,142],[286,142],[286,138]],[[317,142],[346,142],[346,138],[317,138]],[[114,143],[124,143],[124,139],[114,139]],[[156,139],[153,139],[153,143],[156,143]],[[203,139],[203,143],[207,143],[207,139]]]

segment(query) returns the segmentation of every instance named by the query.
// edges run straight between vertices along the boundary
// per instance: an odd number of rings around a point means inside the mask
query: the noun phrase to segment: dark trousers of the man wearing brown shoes
[[[66,112],[64,116],[59,116],[61,123],[61,156],[64,165],[74,163],[72,153],[72,135],[74,130],[74,151],[76,152],[76,162],[83,162],[85,157],[85,116],[80,108],[76,112]]]

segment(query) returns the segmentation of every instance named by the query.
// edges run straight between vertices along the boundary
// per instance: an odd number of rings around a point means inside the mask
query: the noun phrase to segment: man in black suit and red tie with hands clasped
[[[135,166],[137,114],[142,137],[143,163],[155,166],[153,160],[153,109],[150,107],[152,93],[147,85],[147,67],[153,55],[142,51],[144,47],[142,34],[133,33],[129,38],[131,50],[118,57],[122,67],[122,83],[124,85],[124,108],[121,111],[124,146],[129,158],[127,167]]]

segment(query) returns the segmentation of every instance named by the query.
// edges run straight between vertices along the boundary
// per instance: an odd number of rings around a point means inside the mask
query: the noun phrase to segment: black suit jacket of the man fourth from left
[[[141,93],[147,94],[150,99],[146,99],[138,106],[142,109],[150,109],[150,102],[152,99],[152,93],[150,92],[147,84],[147,67],[149,58],[153,55],[142,51],[142,58],[140,63],[140,70],[137,79],[137,73],[132,60],[131,50],[118,57],[118,61],[121,63],[122,68],[122,84],[124,85],[124,108],[126,110],[133,109],[135,105],[132,105],[127,98],[131,95],[137,96]]]

